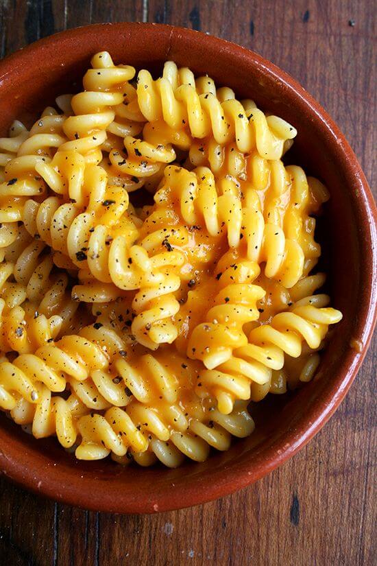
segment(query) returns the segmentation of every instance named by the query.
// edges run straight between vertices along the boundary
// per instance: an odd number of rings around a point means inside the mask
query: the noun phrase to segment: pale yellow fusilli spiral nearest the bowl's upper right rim
[[[138,104],[148,121],[163,119],[175,130],[189,128],[195,138],[212,135],[221,144],[234,140],[242,152],[256,147],[261,156],[279,159],[284,142],[297,133],[284,120],[265,117],[254,102],[239,102],[230,89],[218,97],[208,77],[197,79],[195,84],[189,69],[177,69],[172,62],[165,64],[158,80],[143,70],[137,82]]]

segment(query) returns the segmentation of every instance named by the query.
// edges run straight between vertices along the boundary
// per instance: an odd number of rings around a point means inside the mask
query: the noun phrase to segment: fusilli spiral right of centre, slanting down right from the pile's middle
[[[219,195],[220,191],[222,194]],[[226,231],[228,246],[245,247],[248,259],[266,263],[265,274],[268,277],[278,279],[286,287],[291,287],[302,276],[305,261],[302,245],[306,244],[306,241],[302,242],[304,238],[300,237],[301,224],[297,226],[297,215],[294,216],[296,224],[292,226],[291,222],[293,239],[288,239],[284,225],[281,227],[273,224],[269,220],[269,213],[268,222],[265,222],[262,212],[243,207],[241,198],[236,195],[232,186],[229,187],[229,183],[223,182],[221,189],[217,187],[212,172],[206,167],[198,167],[193,172],[167,167],[165,182],[156,192],[155,200],[170,200],[174,204],[174,199],[175,207],[180,209],[184,222],[191,226],[204,224],[212,237],[221,237]],[[295,204],[298,206],[299,203]],[[311,237],[314,226],[312,222],[309,228]],[[308,253],[307,248],[308,245],[305,248]],[[317,257],[315,244],[310,249],[314,250],[313,255]]]

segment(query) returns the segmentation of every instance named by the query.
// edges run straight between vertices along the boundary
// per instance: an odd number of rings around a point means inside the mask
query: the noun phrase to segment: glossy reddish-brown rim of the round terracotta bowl
[[[83,40],[88,32],[98,32],[99,34],[104,34],[105,32],[106,35],[106,30],[110,28],[112,30],[114,30],[114,28],[115,30],[122,30],[123,32],[127,30],[132,34],[133,30],[136,30],[136,28],[140,30],[141,26],[149,32],[154,30],[156,34],[169,35],[169,41],[182,38],[182,36],[195,38],[195,40],[200,38],[202,41],[205,38],[208,44],[210,43],[213,47],[219,49],[219,51],[225,50],[228,53],[232,52],[231,55],[234,56],[235,59],[247,58],[250,66],[254,66],[259,71],[271,75],[271,78],[273,78],[275,82],[278,82],[281,88],[284,87],[287,96],[295,99],[295,102],[297,102],[301,108],[306,107],[308,112],[313,116],[313,119],[317,119],[319,126],[328,132],[328,144],[332,144],[333,147],[337,148],[337,158],[341,163],[345,176],[347,176],[347,178],[353,178],[354,184],[359,191],[356,208],[358,209],[358,213],[365,220],[363,235],[360,236],[360,241],[361,244],[363,244],[362,251],[365,252],[363,261],[366,266],[366,273],[361,275],[364,279],[366,278],[365,282],[368,286],[368,294],[367,301],[361,305],[358,321],[358,337],[362,338],[363,350],[361,352],[356,351],[356,349],[347,351],[347,368],[343,373],[342,379],[339,381],[337,390],[331,390],[327,397],[316,401],[315,407],[300,421],[300,431],[291,430],[287,432],[278,440],[278,443],[265,451],[267,458],[263,465],[257,464],[253,466],[252,461],[237,462],[234,466],[230,465],[225,467],[221,470],[221,473],[217,473],[218,481],[199,482],[195,484],[195,486],[189,487],[178,486],[165,493],[156,493],[156,497],[153,497],[153,499],[147,499],[147,497],[143,499],[141,493],[138,493],[138,496],[134,497],[134,499],[130,498],[128,493],[127,499],[124,497],[122,499],[122,495],[119,494],[117,501],[112,501],[110,504],[110,499],[107,499],[104,493],[101,493],[101,497],[97,496],[90,499],[88,494],[77,491],[77,488],[71,486],[70,482],[66,482],[66,484],[63,485],[61,482],[57,482],[54,478],[53,466],[38,470],[38,474],[36,474],[33,469],[25,469],[23,462],[16,456],[16,449],[14,449],[12,443],[6,442],[6,435],[0,428],[0,473],[3,473],[11,480],[21,484],[30,491],[45,495],[51,499],[56,499],[56,494],[59,493],[59,502],[91,510],[123,513],[160,512],[203,504],[256,482],[260,477],[263,477],[291,458],[291,456],[297,453],[298,450],[304,447],[304,445],[319,432],[345,397],[352,381],[356,377],[358,368],[363,362],[367,347],[372,338],[377,317],[377,281],[373,276],[373,274],[376,273],[377,266],[377,212],[372,193],[361,166],[350,148],[350,145],[345,140],[343,133],[335,122],[332,121],[328,113],[326,113],[326,110],[324,110],[291,75],[254,53],[254,51],[245,49],[228,40],[172,25],[128,22],[93,24],[76,27],[72,30],[66,30],[42,38],[27,47],[19,49],[14,52],[14,54],[5,57],[0,61],[0,84],[3,78],[6,78],[7,75],[14,72],[14,66],[17,67],[19,62],[22,62],[22,60],[32,62],[32,59],[36,57],[38,52],[43,51],[47,47],[56,46],[62,40]],[[38,57],[36,57],[36,59],[38,60]],[[5,448],[2,449],[4,440]],[[75,473],[74,469],[72,473]]]

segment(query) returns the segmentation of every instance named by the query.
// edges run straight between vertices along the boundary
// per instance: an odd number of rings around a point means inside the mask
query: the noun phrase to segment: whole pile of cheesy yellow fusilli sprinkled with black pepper
[[[202,462],[341,320],[313,272],[328,191],[282,163],[289,123],[208,76],[91,64],[0,139],[0,408],[83,460]]]

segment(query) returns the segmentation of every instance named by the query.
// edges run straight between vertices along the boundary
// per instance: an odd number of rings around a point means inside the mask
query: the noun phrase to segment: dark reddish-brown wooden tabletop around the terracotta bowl
[[[0,0],[4,56],[105,21],[194,27],[272,60],[339,123],[374,186],[372,0]],[[125,53],[125,60],[127,53]],[[293,460],[239,493],[153,516],[69,508],[0,479],[0,565],[376,564],[376,340],[331,421]]]

